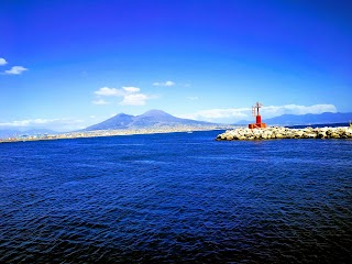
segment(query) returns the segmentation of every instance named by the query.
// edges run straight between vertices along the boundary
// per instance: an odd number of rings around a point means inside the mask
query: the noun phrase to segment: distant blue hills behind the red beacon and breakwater
[[[264,117],[262,117],[264,118]],[[254,118],[253,118],[254,121]],[[252,121],[252,122],[253,122]],[[307,125],[307,124],[329,124],[329,123],[349,123],[352,121],[352,112],[332,113],[324,112],[320,114],[283,114],[276,118],[263,119],[263,122],[270,125]],[[237,124],[248,124],[251,121],[241,120]]]

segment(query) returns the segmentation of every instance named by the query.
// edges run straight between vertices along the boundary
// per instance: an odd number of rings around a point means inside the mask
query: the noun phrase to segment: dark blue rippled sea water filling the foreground
[[[352,141],[0,144],[0,263],[351,263]]]

